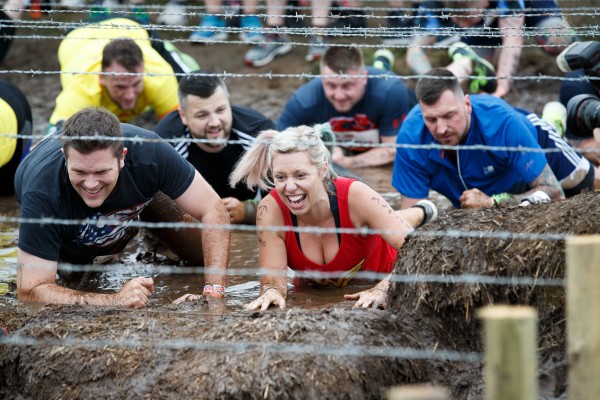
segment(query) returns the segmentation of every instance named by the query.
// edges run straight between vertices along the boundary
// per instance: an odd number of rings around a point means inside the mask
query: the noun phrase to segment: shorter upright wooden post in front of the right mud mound
[[[484,307],[487,400],[538,398],[537,311],[523,306]]]

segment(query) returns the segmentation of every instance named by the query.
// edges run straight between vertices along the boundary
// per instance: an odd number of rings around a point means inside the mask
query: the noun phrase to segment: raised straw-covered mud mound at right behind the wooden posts
[[[600,192],[585,193],[560,203],[535,207],[453,210],[411,237],[394,273],[400,275],[462,275],[498,278],[563,279],[565,243],[560,237],[600,232]],[[504,237],[433,235],[440,231],[505,234]],[[432,235],[426,235],[431,232]],[[511,235],[509,235],[511,234]],[[525,238],[515,238],[523,234]],[[537,238],[547,234],[549,238]],[[529,237],[527,237],[529,235]],[[543,398],[565,396],[565,292],[562,286],[487,283],[393,283],[390,312],[423,315],[418,323],[435,338],[432,345],[458,351],[482,351],[481,326],[475,310],[493,304],[525,304],[539,315],[541,389]],[[411,324],[416,321],[410,321]],[[466,371],[472,369],[467,368]],[[470,388],[451,376],[432,376],[452,387],[456,398],[481,392],[480,372]],[[465,396],[465,397],[463,397]]]

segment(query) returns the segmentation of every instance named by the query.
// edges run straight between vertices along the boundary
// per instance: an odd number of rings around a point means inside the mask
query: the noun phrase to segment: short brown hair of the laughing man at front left
[[[95,136],[98,139],[78,139],[83,136]],[[81,154],[90,154],[96,150],[111,148],[115,157],[123,154],[121,124],[117,117],[102,107],[84,108],[67,119],[62,126],[61,142],[65,157],[73,149]],[[104,140],[103,140],[104,139]],[[106,140],[108,139],[108,140]]]

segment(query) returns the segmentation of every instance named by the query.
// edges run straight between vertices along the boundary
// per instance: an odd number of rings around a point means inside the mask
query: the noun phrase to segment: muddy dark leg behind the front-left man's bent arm
[[[146,222],[198,223],[198,220],[183,211],[171,198],[158,192],[140,215]],[[202,251],[202,229],[160,228],[150,232],[180,259],[194,265],[204,265]]]

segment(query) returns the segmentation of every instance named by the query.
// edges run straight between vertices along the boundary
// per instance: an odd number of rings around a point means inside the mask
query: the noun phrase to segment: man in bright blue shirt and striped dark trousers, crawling
[[[557,201],[594,189],[594,168],[554,126],[495,96],[465,95],[446,69],[427,75],[417,83],[419,106],[398,133],[392,185],[401,208],[426,199],[430,189],[457,208]],[[499,149],[461,150],[482,145]],[[532,151],[510,150],[517,148]]]

